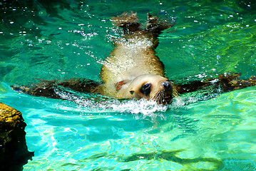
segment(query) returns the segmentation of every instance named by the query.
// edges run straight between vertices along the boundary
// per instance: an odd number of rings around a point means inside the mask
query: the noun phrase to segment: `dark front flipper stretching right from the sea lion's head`
[[[178,93],[189,93],[196,90],[207,90],[209,87],[214,90],[221,90],[222,92],[229,92],[232,90],[239,90],[250,86],[256,86],[256,77],[251,76],[247,80],[239,79],[240,73],[220,74],[217,78],[208,78],[204,81],[193,81],[183,85],[175,85]]]

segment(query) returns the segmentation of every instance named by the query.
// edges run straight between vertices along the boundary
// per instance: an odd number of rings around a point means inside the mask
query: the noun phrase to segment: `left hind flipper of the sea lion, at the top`
[[[119,16],[113,16],[111,21],[115,26],[123,28],[124,33],[142,30],[137,13],[133,13],[133,11],[130,11],[130,13],[124,12]]]

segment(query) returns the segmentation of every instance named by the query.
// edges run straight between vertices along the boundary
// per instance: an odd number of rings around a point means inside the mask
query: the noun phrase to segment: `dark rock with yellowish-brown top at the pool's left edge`
[[[0,103],[0,170],[23,170],[34,152],[26,146],[24,119],[21,112]]]

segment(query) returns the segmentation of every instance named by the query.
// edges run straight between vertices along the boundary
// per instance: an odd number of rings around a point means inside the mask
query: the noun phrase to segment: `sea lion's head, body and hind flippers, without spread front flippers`
[[[164,66],[155,55],[155,48],[160,32],[173,24],[148,14],[147,24],[142,28],[133,12],[113,17],[112,21],[123,28],[124,36],[114,41],[115,48],[101,69],[103,84],[96,91],[111,98],[145,98],[170,103],[178,93],[165,78]]]

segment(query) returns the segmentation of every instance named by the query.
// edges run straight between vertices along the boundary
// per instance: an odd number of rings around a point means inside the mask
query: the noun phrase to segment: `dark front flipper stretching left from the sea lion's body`
[[[11,86],[17,92],[26,93],[29,95],[41,96],[46,98],[61,99],[59,91],[69,88],[81,93],[91,93],[98,86],[99,83],[82,78],[72,78],[68,81],[40,81],[39,83],[32,84],[31,86]]]

